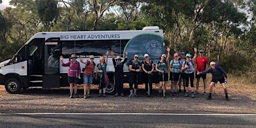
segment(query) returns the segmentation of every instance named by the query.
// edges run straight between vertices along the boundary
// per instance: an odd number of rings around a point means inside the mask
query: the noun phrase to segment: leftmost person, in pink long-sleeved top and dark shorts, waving
[[[71,61],[68,61],[66,63],[63,62],[63,57],[60,55],[59,59],[61,61],[62,66],[69,66],[69,69],[67,71],[67,80],[69,83],[69,89],[70,89],[70,96],[69,98],[77,98],[77,82],[78,79],[80,79],[80,73],[81,73],[81,68],[80,68],[80,63],[76,61],[75,59],[77,58],[75,54],[71,55]],[[73,89],[74,89],[74,94],[73,94]]]

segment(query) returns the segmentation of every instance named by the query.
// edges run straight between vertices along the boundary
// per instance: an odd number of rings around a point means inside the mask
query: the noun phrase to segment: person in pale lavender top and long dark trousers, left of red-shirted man
[[[197,49],[194,47],[194,57],[191,59],[191,54],[187,53],[186,54],[186,60],[182,63],[181,69],[184,70],[185,72],[185,80],[186,80],[186,92],[185,92],[185,97],[188,96],[188,81],[190,79],[190,86],[191,86],[191,97],[194,98],[194,67],[193,67],[193,61],[196,58],[196,52]]]

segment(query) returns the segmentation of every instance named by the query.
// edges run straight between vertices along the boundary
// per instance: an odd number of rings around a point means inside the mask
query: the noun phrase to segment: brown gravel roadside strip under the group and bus
[[[200,88],[195,98],[170,96],[147,97],[143,85],[139,85],[138,97],[128,97],[128,85],[125,84],[125,96],[107,95],[97,97],[97,90],[91,90],[90,98],[69,99],[68,87],[51,89],[30,89],[20,94],[9,94],[0,85],[0,113],[13,112],[139,112],[139,113],[253,113],[256,114],[256,95],[247,90],[228,89],[229,101],[224,100],[223,89],[220,85],[213,88],[212,100]],[[157,86],[153,85],[153,94],[157,93]],[[93,85],[92,88],[97,88]],[[169,87],[168,87],[169,88]],[[167,88],[167,89],[168,89]],[[168,89],[169,90],[169,89]],[[82,97],[82,86],[78,87],[78,94]]]

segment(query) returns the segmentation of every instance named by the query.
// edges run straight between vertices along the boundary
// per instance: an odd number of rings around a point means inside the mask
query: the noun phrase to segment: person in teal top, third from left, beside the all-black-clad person
[[[104,75],[107,75],[106,73],[106,65],[107,65],[107,57],[108,57],[108,50],[106,51],[106,57],[103,56],[99,57],[99,63],[96,65],[96,71],[98,72],[98,97],[103,96],[106,97],[106,84],[104,83]],[[103,90],[103,93],[102,93]]]

